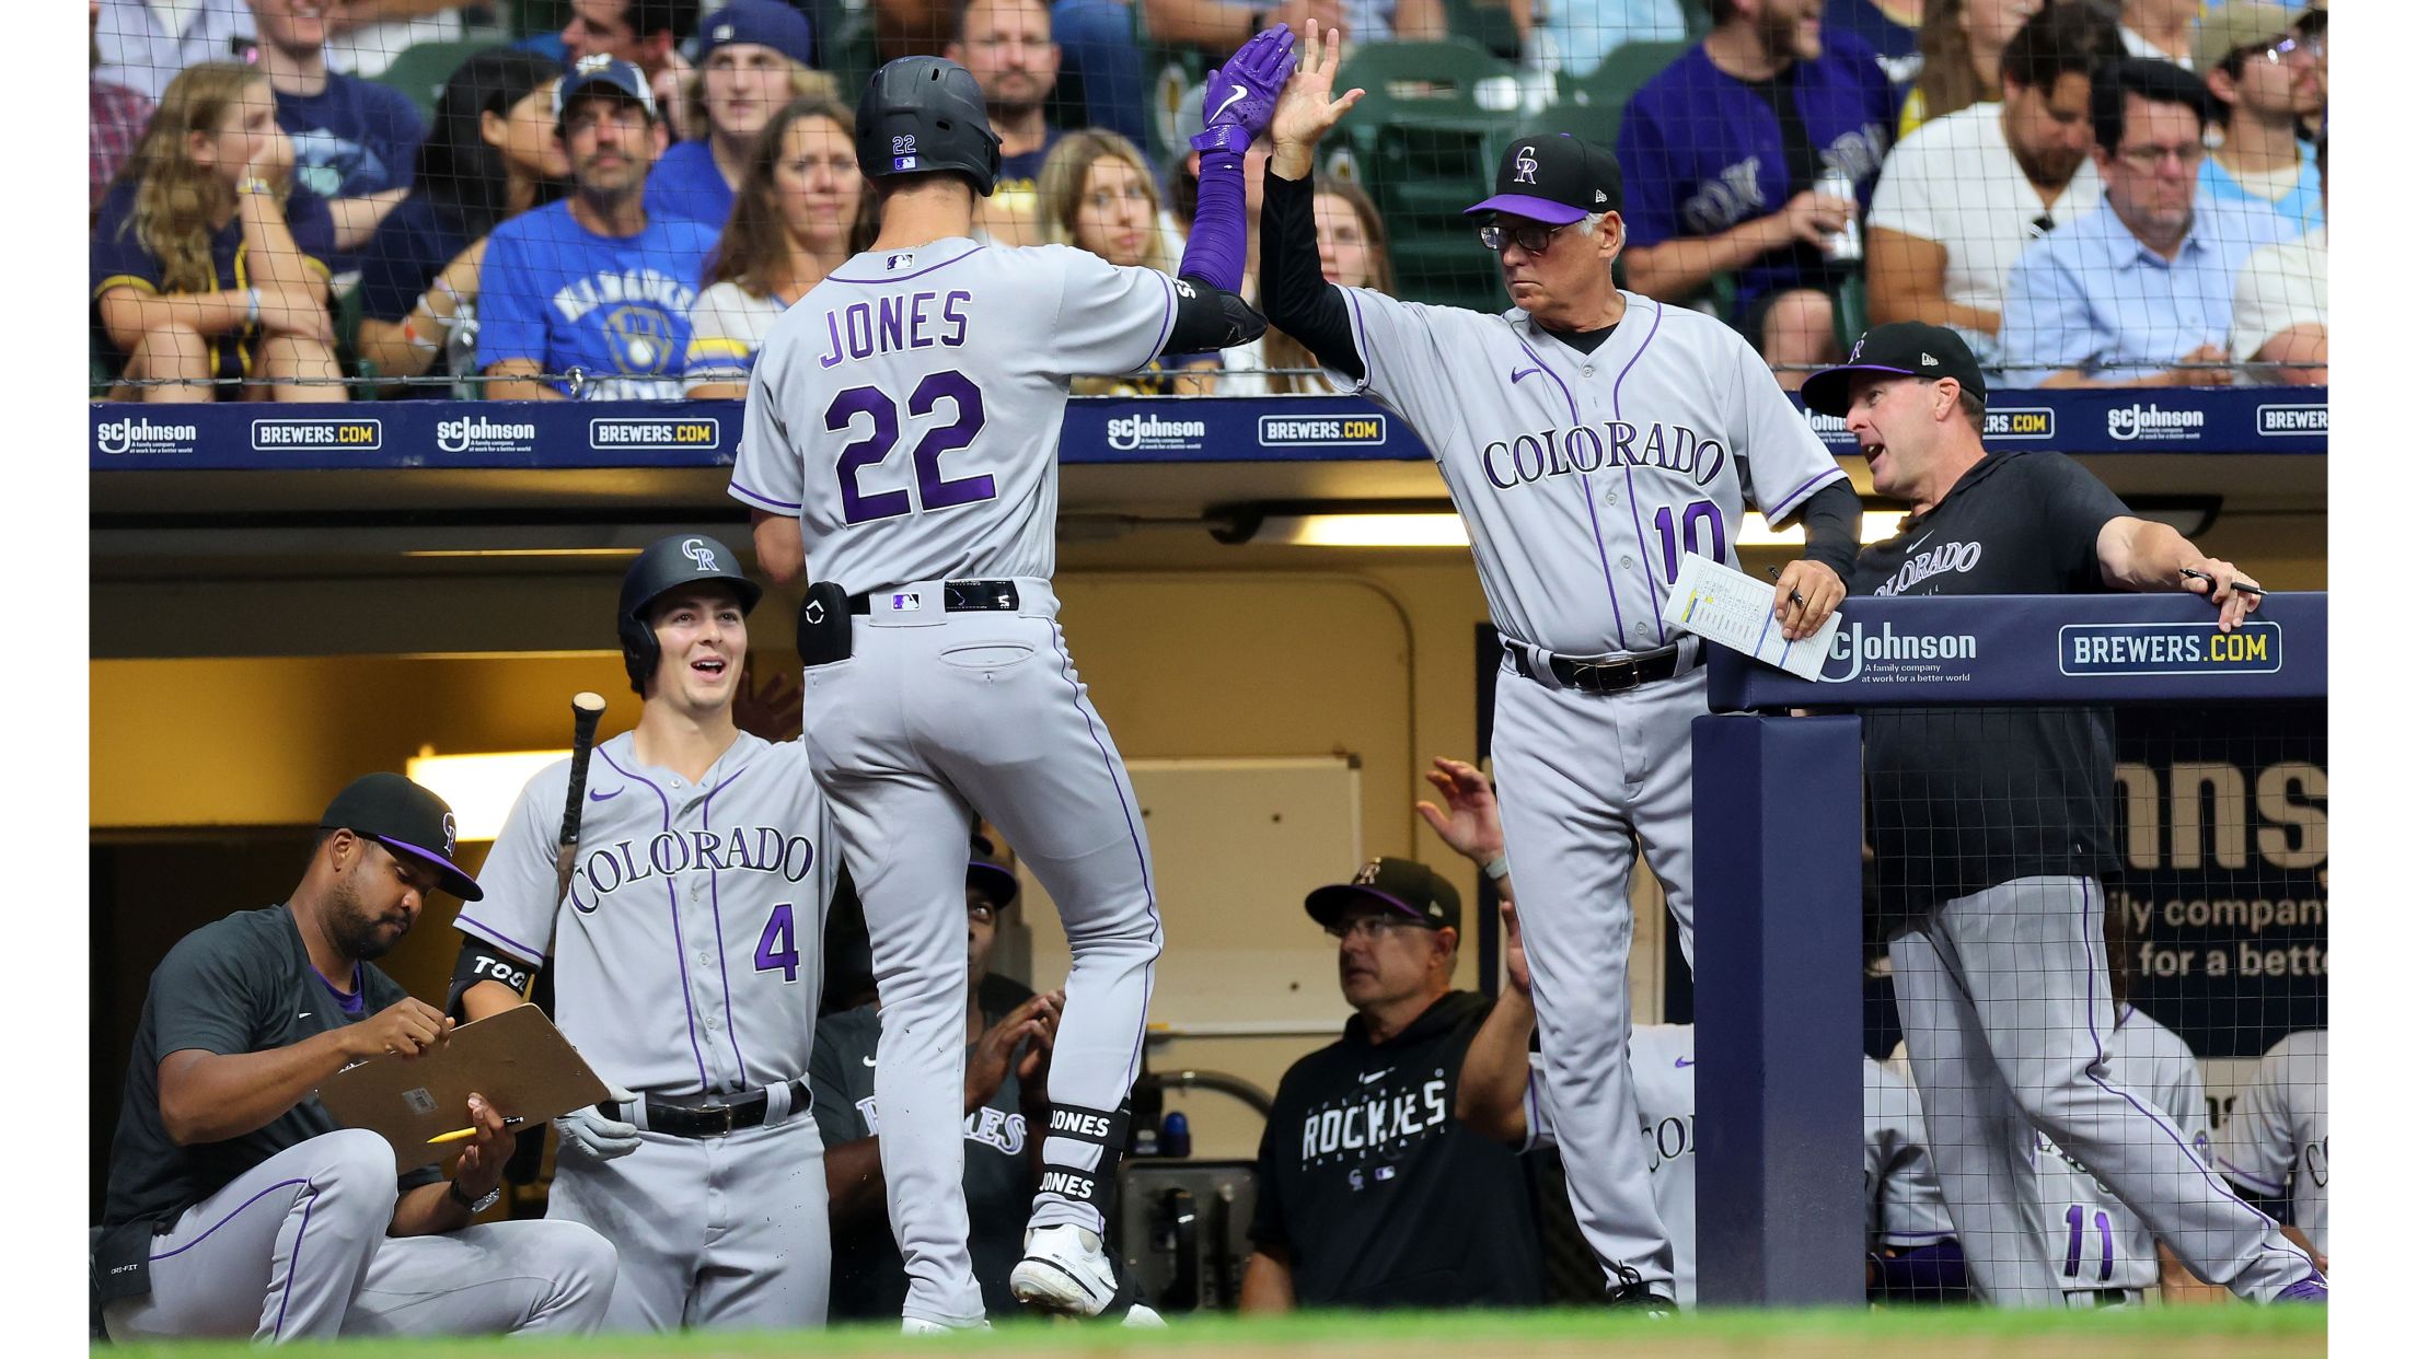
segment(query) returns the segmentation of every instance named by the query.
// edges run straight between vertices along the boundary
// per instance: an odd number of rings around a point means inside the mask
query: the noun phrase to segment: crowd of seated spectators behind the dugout
[[[986,94],[1005,164],[976,235],[1170,268],[1196,152],[1165,148],[1199,97],[1146,92],[1143,68],[1213,70],[1303,19],[1346,34],[1346,80],[1366,58],[1395,92],[1426,73],[1383,51],[1433,60],[1436,87],[1494,63],[1450,104],[1484,106],[1494,143],[1615,145],[1624,285],[1721,314],[1786,387],[1907,319],[2009,387],[2325,380],[2325,0],[89,10],[92,370],[114,399],[737,397],[771,317],[870,242],[853,97],[904,53]],[[1431,169],[1361,145],[1322,167],[1327,276],[1424,300],[1450,256],[1392,259],[1387,225],[1426,227],[1385,177]],[[1264,145],[1252,218],[1262,167]],[[1329,382],[1279,331],[1092,389]]]

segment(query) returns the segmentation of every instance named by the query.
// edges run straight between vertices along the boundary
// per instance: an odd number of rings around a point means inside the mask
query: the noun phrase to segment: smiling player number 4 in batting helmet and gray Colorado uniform
[[[546,965],[556,1023],[619,1086],[556,1122],[546,1202],[621,1250],[609,1330],[822,1325],[829,1301],[807,1069],[839,856],[802,745],[730,716],[759,597],[711,537],[638,556],[619,607],[638,728],[595,747],[568,892],[566,759],[522,788],[454,921],[462,1008],[517,1006]]]

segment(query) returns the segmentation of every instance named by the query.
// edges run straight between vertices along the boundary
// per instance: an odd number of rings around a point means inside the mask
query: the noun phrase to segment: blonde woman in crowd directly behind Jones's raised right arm
[[[1126,138],[1088,128],[1066,133],[1042,162],[1032,186],[1034,230],[1047,244],[1088,249],[1109,264],[1175,273],[1175,244],[1160,220],[1158,181],[1150,162]],[[1216,370],[1216,358],[1175,368]],[[1076,377],[1078,397],[1204,397],[1206,377],[1175,377],[1165,360],[1119,377]]]

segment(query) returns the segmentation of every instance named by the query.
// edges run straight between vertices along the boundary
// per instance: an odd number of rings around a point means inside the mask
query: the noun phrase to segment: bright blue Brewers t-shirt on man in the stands
[[[715,239],[715,227],[682,218],[599,237],[568,201],[498,225],[479,271],[479,368],[527,358],[546,375],[585,370],[585,399],[677,399],[689,307]]]

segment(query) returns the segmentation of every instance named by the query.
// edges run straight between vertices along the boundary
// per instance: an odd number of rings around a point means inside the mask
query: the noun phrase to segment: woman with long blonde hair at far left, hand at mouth
[[[94,331],[121,401],[343,401],[326,314],[336,222],[290,186],[268,77],[189,65],[160,94],[92,230]],[[324,387],[312,384],[326,380]]]

